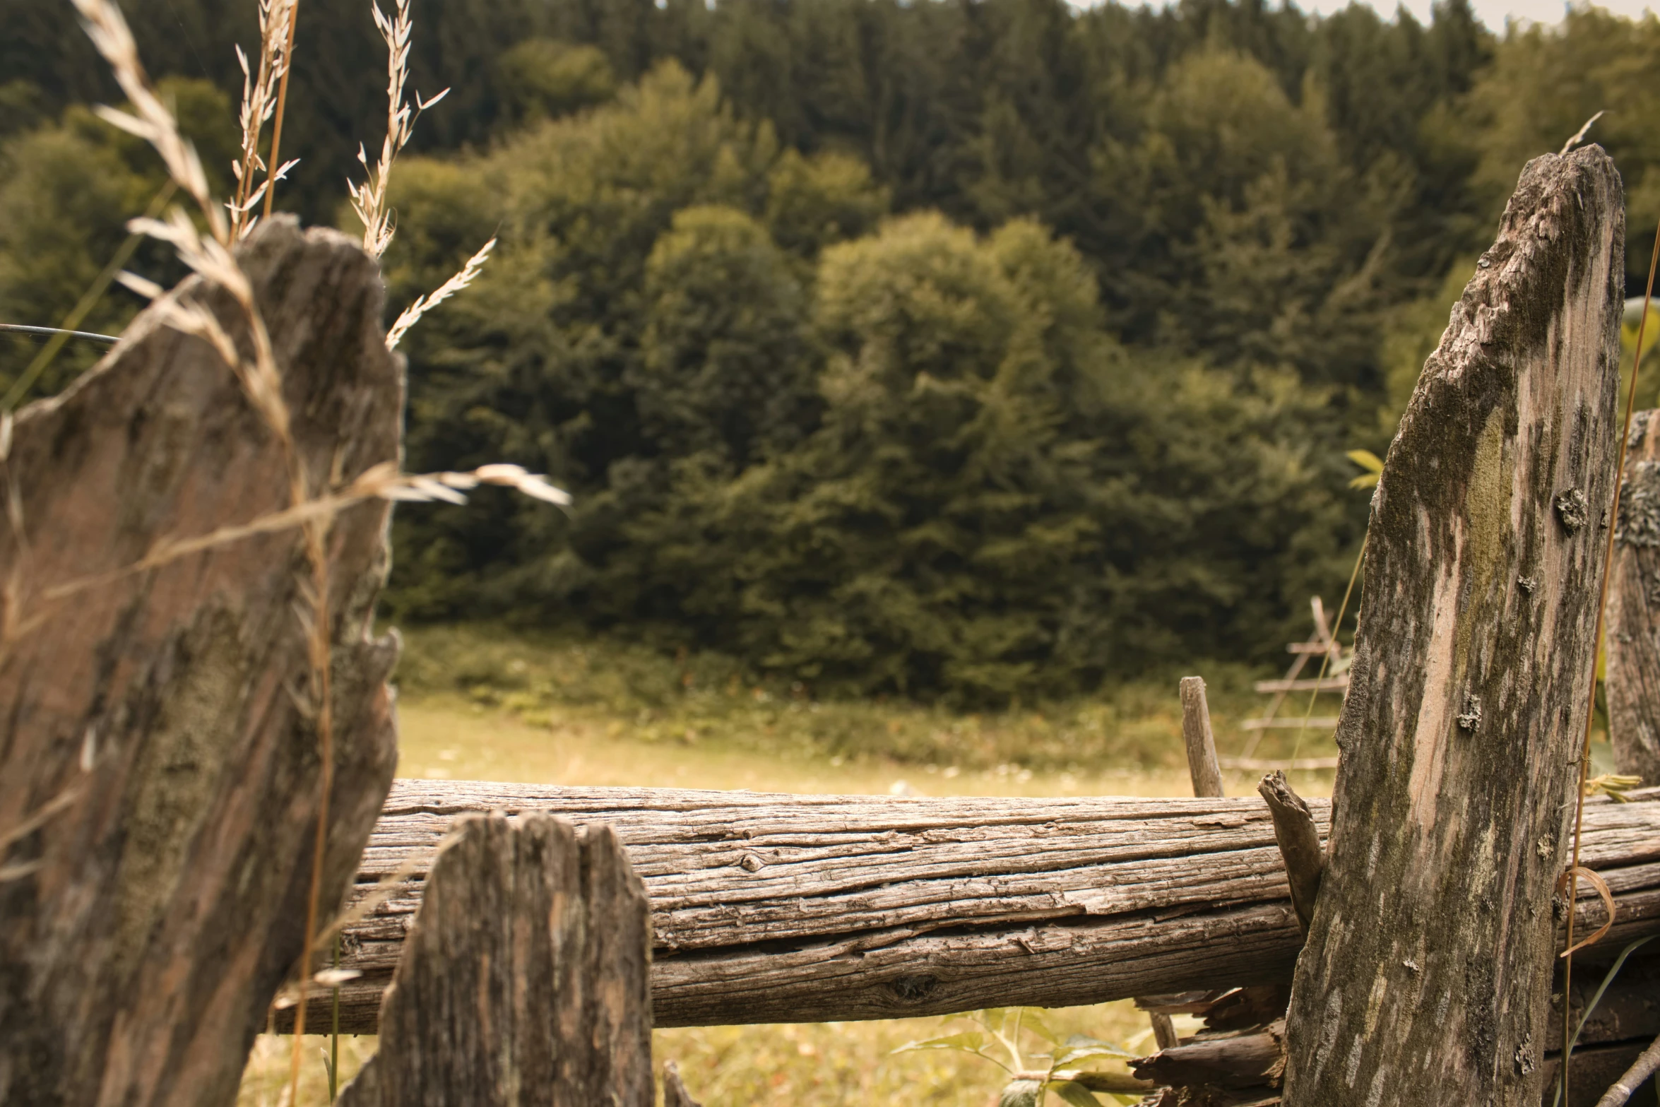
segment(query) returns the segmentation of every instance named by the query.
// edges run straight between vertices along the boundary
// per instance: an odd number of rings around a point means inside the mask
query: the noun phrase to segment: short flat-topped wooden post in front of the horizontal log
[[[463,818],[340,1107],[651,1107],[651,908],[616,835]]]

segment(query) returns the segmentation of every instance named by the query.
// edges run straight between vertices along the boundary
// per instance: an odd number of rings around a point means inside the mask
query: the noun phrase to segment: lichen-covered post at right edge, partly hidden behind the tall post
[[[1637,412],[1627,443],[1609,578],[1609,739],[1622,773],[1660,783],[1660,412]]]

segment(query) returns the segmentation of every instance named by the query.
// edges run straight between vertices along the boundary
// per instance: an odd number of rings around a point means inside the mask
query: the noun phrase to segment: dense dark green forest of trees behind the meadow
[[[252,35],[219,7],[128,5],[216,153]],[[1653,20],[413,7],[415,83],[455,91],[395,176],[392,307],[501,246],[405,340],[408,465],[520,461],[578,503],[400,511],[395,614],[576,619],[820,690],[1283,649],[1365,526],[1343,451],[1386,446],[1522,161],[1609,108],[1633,241],[1660,214]],[[383,51],[362,3],[299,28],[286,199],[334,222]],[[58,0],[0,12],[7,319],[60,317],[159,186],[80,106],[111,91],[78,35]]]

